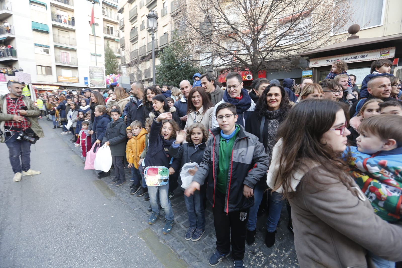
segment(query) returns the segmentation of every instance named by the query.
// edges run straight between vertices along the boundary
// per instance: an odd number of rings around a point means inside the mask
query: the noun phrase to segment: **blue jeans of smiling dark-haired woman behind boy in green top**
[[[247,222],[247,230],[253,231],[257,224],[257,212],[263,199],[264,187],[256,185],[254,188],[254,206],[250,207],[250,215]],[[282,210],[282,194],[278,192],[271,192],[268,194],[269,211],[267,219],[267,231],[274,232],[278,225],[279,217]]]

